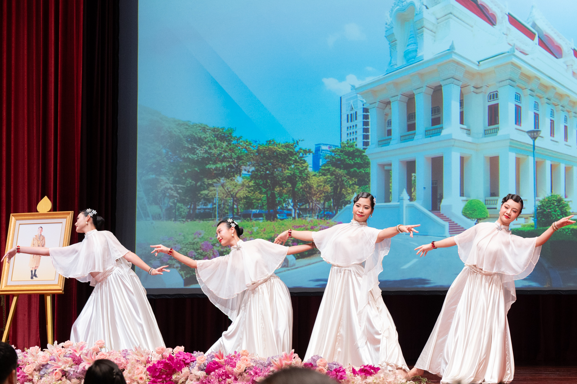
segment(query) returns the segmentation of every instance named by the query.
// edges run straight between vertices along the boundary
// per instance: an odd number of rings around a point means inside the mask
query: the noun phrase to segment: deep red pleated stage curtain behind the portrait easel
[[[78,207],[83,2],[5,0],[1,12],[3,250],[10,213],[36,212],[44,195],[54,210]],[[65,292],[59,302],[76,302],[75,280]],[[76,318],[75,311],[68,315]],[[22,295],[10,341],[18,348],[45,344],[44,324],[39,295]]]

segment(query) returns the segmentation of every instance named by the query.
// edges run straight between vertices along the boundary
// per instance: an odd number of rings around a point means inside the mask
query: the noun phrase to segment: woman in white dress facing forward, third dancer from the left
[[[409,368],[381,296],[379,273],[391,246],[390,238],[400,232],[409,232],[412,237],[418,225],[399,224],[382,231],[368,227],[373,195],[363,192],[353,202],[350,223],[319,232],[288,229],[275,239],[283,244],[289,237],[313,240],[321,257],[332,264],[305,360],[320,355],[344,365],[379,364],[398,369],[403,377]]]

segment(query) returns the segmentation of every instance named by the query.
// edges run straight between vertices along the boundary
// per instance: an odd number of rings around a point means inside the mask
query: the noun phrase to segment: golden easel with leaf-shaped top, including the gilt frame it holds
[[[49,212],[52,209],[52,202],[47,196],[38,203],[36,206],[39,213],[13,213],[10,215],[10,225],[8,229],[8,237],[6,238],[6,251],[13,246],[12,240],[14,238],[14,227],[16,226],[17,220],[33,220],[33,219],[63,219],[66,218],[65,225],[65,235],[63,246],[67,246],[70,243],[70,229],[72,228],[72,218],[74,212]],[[8,281],[8,270],[6,261],[4,262],[2,268],[2,278],[0,280],[0,295],[13,295],[12,304],[10,305],[10,311],[8,313],[8,319],[6,319],[6,327],[4,329],[4,334],[2,335],[2,341],[8,340],[8,334],[10,332],[10,326],[12,326],[12,321],[14,320],[14,314],[16,313],[16,304],[18,303],[18,297],[24,294],[40,294],[44,295],[44,304],[46,304],[46,334],[48,342],[50,344],[54,343],[54,320],[52,311],[52,295],[64,293],[64,277],[59,276],[58,284],[46,284],[46,285],[35,285],[25,287],[23,285],[14,287],[13,285],[7,285]],[[8,304],[6,302],[6,304]]]

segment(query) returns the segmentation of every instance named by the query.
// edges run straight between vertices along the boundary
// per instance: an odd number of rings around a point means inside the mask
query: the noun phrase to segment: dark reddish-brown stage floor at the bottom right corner
[[[426,372],[424,377],[432,383],[441,378]],[[511,384],[577,383],[577,367],[515,367]]]

